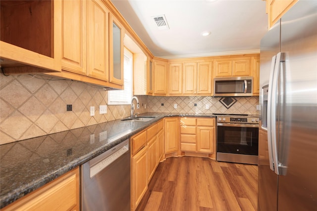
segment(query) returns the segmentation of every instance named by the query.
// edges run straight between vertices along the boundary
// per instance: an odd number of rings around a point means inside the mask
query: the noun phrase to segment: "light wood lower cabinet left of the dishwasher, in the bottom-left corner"
[[[49,210],[79,211],[79,167],[1,209],[1,211]]]

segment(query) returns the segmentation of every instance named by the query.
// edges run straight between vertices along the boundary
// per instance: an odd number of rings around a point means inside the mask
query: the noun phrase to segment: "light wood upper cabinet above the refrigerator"
[[[298,0],[266,0],[268,29],[270,29],[297,1]]]

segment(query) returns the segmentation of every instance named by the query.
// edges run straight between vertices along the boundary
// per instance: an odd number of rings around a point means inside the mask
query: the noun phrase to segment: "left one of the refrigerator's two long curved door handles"
[[[276,63],[276,55],[272,57],[269,82],[268,82],[268,93],[267,93],[267,147],[268,147],[268,160],[269,160],[269,168],[274,171],[274,161],[273,161],[273,150],[272,150],[272,128],[271,128],[271,99],[272,99],[272,84],[273,84],[273,76],[275,70]]]

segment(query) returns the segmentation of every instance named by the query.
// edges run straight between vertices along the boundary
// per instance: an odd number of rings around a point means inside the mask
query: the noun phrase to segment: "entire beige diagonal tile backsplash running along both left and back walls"
[[[122,119],[130,116],[130,105],[108,105],[106,114],[99,106],[106,105],[107,93],[101,87],[48,76],[0,74],[0,144],[47,135],[78,127]],[[146,96],[138,95],[136,112],[164,113],[235,113],[258,114],[259,97],[235,97],[227,109],[221,97],[209,96]],[[66,105],[72,111],[66,111]],[[163,106],[162,106],[163,104]],[[174,109],[174,104],[177,108]],[[145,108],[146,105],[146,108]],[[209,109],[206,109],[206,105]],[[95,106],[95,116],[90,107]]]

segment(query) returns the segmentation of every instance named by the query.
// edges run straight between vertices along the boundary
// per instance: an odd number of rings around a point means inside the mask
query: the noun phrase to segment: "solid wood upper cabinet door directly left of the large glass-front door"
[[[105,4],[87,1],[88,76],[108,81],[109,11]]]

